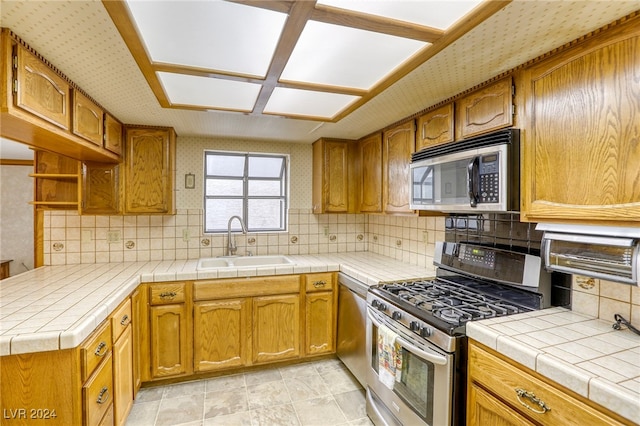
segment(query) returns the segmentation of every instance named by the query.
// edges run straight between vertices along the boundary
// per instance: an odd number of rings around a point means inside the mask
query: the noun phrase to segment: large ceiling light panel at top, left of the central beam
[[[223,1],[127,5],[152,62],[264,77],[287,15]]]

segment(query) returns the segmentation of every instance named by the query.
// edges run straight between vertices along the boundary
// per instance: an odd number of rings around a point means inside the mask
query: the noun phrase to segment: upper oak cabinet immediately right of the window
[[[313,143],[313,213],[349,212],[349,141]]]

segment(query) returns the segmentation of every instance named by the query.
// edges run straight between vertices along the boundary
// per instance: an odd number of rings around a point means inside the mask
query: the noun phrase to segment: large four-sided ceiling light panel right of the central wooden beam
[[[426,44],[309,21],[281,79],[366,90]]]

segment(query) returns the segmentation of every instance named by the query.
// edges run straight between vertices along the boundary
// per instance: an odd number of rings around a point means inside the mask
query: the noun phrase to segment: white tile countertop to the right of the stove
[[[640,336],[564,308],[467,323],[472,338],[640,424]]]

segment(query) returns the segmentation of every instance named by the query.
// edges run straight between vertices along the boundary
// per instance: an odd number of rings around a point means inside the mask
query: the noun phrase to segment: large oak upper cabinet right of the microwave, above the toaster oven
[[[640,222],[640,17],[523,72],[526,221]]]

